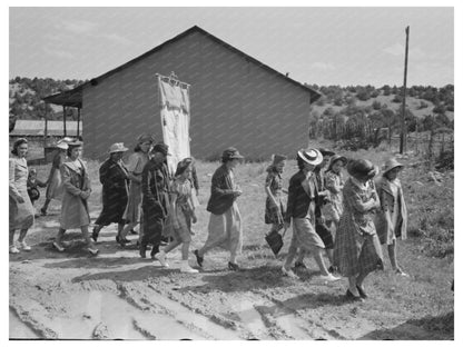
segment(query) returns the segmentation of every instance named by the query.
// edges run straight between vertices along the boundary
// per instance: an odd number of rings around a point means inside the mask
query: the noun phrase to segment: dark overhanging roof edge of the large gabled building
[[[228,44],[227,42],[220,40],[219,38],[215,37],[214,34],[207,32],[206,30],[199,28],[198,26],[194,26],[191,28],[189,28],[188,30],[181,32],[180,34],[174,37],[170,40],[167,40],[166,42],[155,47],[154,49],[147,51],[146,53],[142,53],[141,56],[138,56],[137,58],[117,67],[116,69],[112,69],[99,77],[96,77],[93,79],[91,79],[88,82],[85,82],[82,85],[80,85],[79,87],[71,89],[71,90],[67,90],[60,93],[56,93],[52,96],[48,96],[46,98],[43,98],[43,101],[48,102],[48,103],[56,103],[56,105],[62,105],[62,106],[71,106],[71,107],[78,107],[81,108],[82,107],[82,90],[85,88],[88,88],[90,86],[96,86],[98,85],[100,81],[102,81],[104,79],[115,75],[116,72],[119,72],[130,66],[132,66],[134,63],[156,53],[157,51],[161,50],[162,48],[165,48],[166,46],[174,43],[178,40],[181,40],[183,38],[187,37],[190,33],[194,32],[199,32],[208,38],[210,38],[211,40],[216,41],[217,43],[224,46],[225,48],[229,49],[230,51],[244,57],[246,60],[254,62],[255,65],[259,66],[260,68],[267,70],[270,73],[274,73],[280,78],[284,78],[286,81],[288,81],[292,85],[295,85],[299,88],[303,88],[304,90],[308,91],[311,93],[311,102],[316,101],[322,95],[319,92],[317,92],[316,90],[304,86],[303,83],[299,83],[298,81],[287,77],[286,75],[283,75],[282,72],[278,72],[277,70],[270,68],[269,66],[258,61],[257,59],[246,54],[245,52],[240,51],[239,49],[233,47],[232,44]]]

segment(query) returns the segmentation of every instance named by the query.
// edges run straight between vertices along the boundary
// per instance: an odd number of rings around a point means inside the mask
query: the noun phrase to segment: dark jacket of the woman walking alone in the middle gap
[[[223,163],[213,175],[207,210],[214,215],[223,215],[232,207],[235,199],[233,178]]]

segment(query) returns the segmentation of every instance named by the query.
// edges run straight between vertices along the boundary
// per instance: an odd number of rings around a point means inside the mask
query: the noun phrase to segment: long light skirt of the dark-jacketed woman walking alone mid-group
[[[236,202],[221,215],[210,214],[208,236],[203,251],[206,252],[215,247],[221,247],[235,255],[242,252],[242,215]]]

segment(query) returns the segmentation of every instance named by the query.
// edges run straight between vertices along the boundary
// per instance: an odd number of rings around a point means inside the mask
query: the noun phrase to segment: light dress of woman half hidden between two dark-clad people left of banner
[[[129,156],[126,168],[127,171],[141,179],[141,172],[149,157],[142,151],[134,152]],[[124,212],[124,219],[127,222],[140,222],[141,216],[141,182],[130,180],[129,196],[127,207]]]

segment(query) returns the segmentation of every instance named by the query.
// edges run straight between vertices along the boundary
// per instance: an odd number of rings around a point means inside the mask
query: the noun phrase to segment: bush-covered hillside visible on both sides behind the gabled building
[[[52,93],[76,88],[82,80],[55,80],[51,78],[22,78],[10,80],[10,128],[16,119],[37,120],[47,112],[50,120],[62,119],[62,108],[46,105],[41,98]],[[386,126],[394,118],[397,121],[402,107],[402,88],[396,86],[317,86],[307,85],[319,91],[323,97],[312,107],[311,121],[323,121],[335,118],[351,119],[361,115],[375,119],[377,127]],[[443,88],[431,86],[413,86],[407,88],[408,126],[415,121],[435,127],[453,128],[454,87],[447,85]],[[77,120],[77,112],[69,109],[67,118]]]

